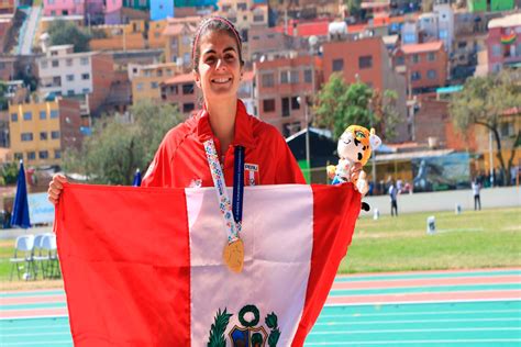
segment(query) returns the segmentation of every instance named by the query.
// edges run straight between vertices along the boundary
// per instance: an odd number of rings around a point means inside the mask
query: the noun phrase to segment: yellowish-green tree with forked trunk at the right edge
[[[516,148],[521,145],[521,130],[510,136],[506,143],[500,135],[500,126],[505,123],[506,111],[517,108],[516,117],[521,116],[521,71],[503,70],[497,75],[474,77],[467,79],[463,91],[457,93],[450,103],[448,112],[459,132],[473,124],[485,126],[492,134],[496,143],[497,158],[501,169],[510,181],[510,168],[516,155]],[[510,157],[505,161],[503,145],[510,147]],[[508,149],[505,148],[505,149]]]

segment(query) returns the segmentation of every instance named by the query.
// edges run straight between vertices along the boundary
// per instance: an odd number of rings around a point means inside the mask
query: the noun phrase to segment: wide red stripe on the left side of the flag
[[[189,346],[185,191],[66,184],[57,210],[75,346]]]

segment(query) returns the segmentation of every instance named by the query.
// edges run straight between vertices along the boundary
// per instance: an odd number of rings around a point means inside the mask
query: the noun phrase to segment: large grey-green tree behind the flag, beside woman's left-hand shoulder
[[[130,186],[136,168],[146,168],[166,132],[184,116],[169,104],[152,101],[122,115],[103,116],[96,122],[92,136],[80,150],[65,152],[65,170],[86,175],[96,183]]]

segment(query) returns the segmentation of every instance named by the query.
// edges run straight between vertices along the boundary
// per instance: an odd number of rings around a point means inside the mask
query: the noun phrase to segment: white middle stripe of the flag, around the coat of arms
[[[245,264],[232,273],[222,262],[226,242],[213,188],[187,189],[190,233],[191,343],[208,344],[218,310],[233,313],[225,337],[245,305],[278,317],[278,346],[289,346],[302,314],[313,248],[313,193],[310,186],[257,186],[244,190]],[[231,194],[231,192],[230,192]],[[224,279],[224,280],[223,280]],[[257,326],[259,326],[257,325]],[[229,340],[230,343],[230,340]]]

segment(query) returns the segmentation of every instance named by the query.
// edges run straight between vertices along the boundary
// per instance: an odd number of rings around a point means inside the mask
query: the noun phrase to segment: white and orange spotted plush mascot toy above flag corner
[[[380,137],[375,134],[375,130],[370,132],[359,125],[348,126],[339,139],[339,165],[330,165],[328,167],[328,176],[333,180],[333,184],[340,184],[343,182],[350,182],[350,169],[355,163],[361,163],[363,166],[366,165],[370,158],[370,154],[374,149],[378,148],[381,144]],[[366,180],[366,174],[361,172],[356,182],[353,182],[362,195],[365,195],[369,190],[369,186]],[[369,211],[367,203],[362,204],[362,209]]]

